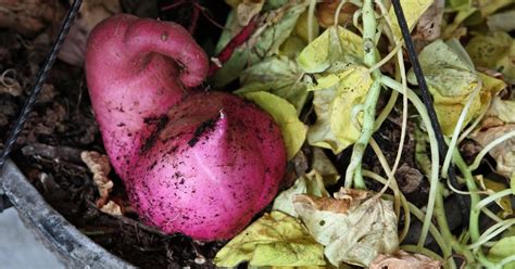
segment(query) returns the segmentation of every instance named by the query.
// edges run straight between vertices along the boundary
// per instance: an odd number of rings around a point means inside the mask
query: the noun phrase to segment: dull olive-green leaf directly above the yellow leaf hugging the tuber
[[[296,62],[286,56],[272,56],[243,71],[240,76],[243,87],[234,93],[267,91],[288,100],[300,115],[307,99],[306,85],[300,81],[301,77],[302,71]]]

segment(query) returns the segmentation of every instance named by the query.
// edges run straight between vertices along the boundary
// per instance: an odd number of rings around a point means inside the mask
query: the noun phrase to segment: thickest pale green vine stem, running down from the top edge
[[[363,50],[364,63],[367,67],[372,67],[377,63],[377,54],[375,51],[374,38],[377,30],[376,13],[373,7],[373,0],[365,0],[363,3]],[[374,123],[376,116],[376,104],[380,93],[380,84],[378,78],[381,73],[375,69],[372,73],[374,82],[368,89],[363,105],[363,126],[361,128],[360,138],[354,143],[351,156],[351,163],[346,171],[346,187],[351,187],[352,183],[356,189],[365,189],[365,181],[362,175],[362,161],[365,153],[366,145],[374,133]]]

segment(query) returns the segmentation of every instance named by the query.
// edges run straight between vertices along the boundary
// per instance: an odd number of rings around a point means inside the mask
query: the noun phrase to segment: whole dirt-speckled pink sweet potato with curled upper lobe
[[[113,167],[140,217],[165,232],[229,239],[275,196],[280,131],[255,105],[193,92],[208,57],[180,26],[116,15],[91,33],[86,74]]]

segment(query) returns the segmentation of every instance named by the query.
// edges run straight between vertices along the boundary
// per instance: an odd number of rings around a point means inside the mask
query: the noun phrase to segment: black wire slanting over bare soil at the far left
[[[66,17],[64,18],[63,25],[61,26],[58,38],[55,39],[52,46],[50,54],[45,60],[45,63],[41,69],[39,69],[33,91],[30,92],[30,95],[28,97],[28,99],[25,101],[22,112],[20,113],[20,116],[16,119],[16,123],[12,127],[9,133],[8,140],[5,141],[2,154],[0,155],[0,169],[2,169],[3,165],[5,164],[7,158],[9,154],[11,153],[14,143],[16,142],[17,137],[20,136],[20,132],[23,130],[23,126],[28,119],[28,115],[30,111],[33,110],[34,104],[36,103],[36,99],[42,89],[43,82],[47,80],[48,74],[50,69],[52,68],[53,63],[55,62],[55,59],[58,57],[59,50],[61,49],[61,46],[63,44],[64,39],[66,38],[66,35],[68,34],[70,27],[72,26],[73,21],[75,20],[75,16],[77,15],[77,12],[78,12],[78,9],[80,8],[81,2],[83,0],[75,0],[73,2],[72,7],[68,10],[68,13],[66,14]]]

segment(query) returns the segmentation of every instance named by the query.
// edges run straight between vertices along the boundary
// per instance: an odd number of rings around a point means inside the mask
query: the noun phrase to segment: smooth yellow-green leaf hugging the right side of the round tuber
[[[297,117],[296,107],[288,101],[266,91],[246,92],[240,95],[271,114],[280,128],[288,159],[291,159],[304,143],[307,129]]]

